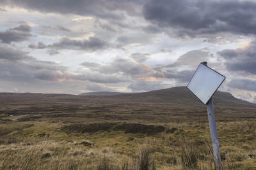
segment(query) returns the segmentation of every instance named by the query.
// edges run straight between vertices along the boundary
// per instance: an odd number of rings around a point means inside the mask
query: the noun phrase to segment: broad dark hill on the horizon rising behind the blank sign
[[[172,87],[169,89],[153,90],[149,92],[139,93],[122,93],[122,92],[90,92],[80,94],[79,96],[95,96],[95,97],[111,97],[113,99],[122,99],[124,101],[137,102],[154,102],[154,103],[170,103],[177,106],[204,106],[197,97],[195,97],[186,87]],[[110,98],[109,98],[110,99]],[[232,96],[228,92],[216,91],[213,96],[214,106],[228,107],[256,107],[256,104],[243,101]]]

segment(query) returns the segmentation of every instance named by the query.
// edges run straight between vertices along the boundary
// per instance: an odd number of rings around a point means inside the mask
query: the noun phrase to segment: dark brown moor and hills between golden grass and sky
[[[206,107],[186,87],[154,90],[135,94],[93,92],[81,95],[0,93],[0,115],[27,115],[19,121],[59,117],[63,121],[147,120],[183,121],[193,117],[207,120]],[[256,104],[242,101],[228,92],[217,91],[213,97],[218,120],[256,118]],[[2,115],[2,116],[3,116]],[[33,115],[33,116],[31,116]],[[185,117],[186,115],[186,117]],[[204,119],[204,120],[203,120]],[[1,120],[1,117],[0,117]]]

